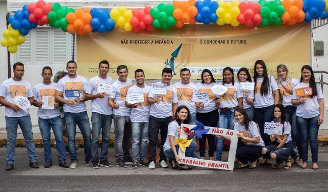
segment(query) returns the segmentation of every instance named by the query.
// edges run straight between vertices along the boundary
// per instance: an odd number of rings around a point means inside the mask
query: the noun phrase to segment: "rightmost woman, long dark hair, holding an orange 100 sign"
[[[308,92],[312,95],[301,96],[299,92]],[[312,169],[318,169],[318,130],[323,123],[324,100],[322,90],[316,83],[313,70],[309,65],[301,69],[300,83],[293,90],[292,104],[297,106],[296,125],[300,134],[300,157],[303,160],[301,168],[307,168],[308,142],[312,153]]]

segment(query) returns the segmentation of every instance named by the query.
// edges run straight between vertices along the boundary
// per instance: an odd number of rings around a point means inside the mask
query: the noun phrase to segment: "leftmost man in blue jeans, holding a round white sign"
[[[5,106],[5,119],[7,130],[7,156],[6,170],[9,171],[14,167],[15,146],[17,138],[17,127],[21,128],[26,143],[27,154],[29,155],[30,167],[39,168],[37,156],[35,153],[35,144],[32,133],[32,122],[29,109],[21,109],[15,104],[15,97],[26,97],[31,104],[34,103],[31,84],[25,79],[24,64],[18,62],[13,66],[12,78],[5,80],[0,86],[0,104]]]

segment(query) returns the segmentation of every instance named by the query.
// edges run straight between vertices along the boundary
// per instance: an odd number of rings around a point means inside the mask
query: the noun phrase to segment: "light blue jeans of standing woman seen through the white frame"
[[[234,112],[232,110],[229,111],[220,111],[220,116],[219,116],[219,128],[227,129],[229,128],[230,130],[234,129],[234,122],[235,122],[235,117],[234,117]],[[217,138],[216,139],[216,161],[221,161],[222,158],[222,151],[223,151],[223,138]]]

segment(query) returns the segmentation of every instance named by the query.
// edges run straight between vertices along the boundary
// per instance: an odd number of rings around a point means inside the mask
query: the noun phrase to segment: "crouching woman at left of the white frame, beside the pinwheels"
[[[178,156],[179,145],[174,145],[174,142],[180,138],[181,124],[189,124],[190,122],[190,111],[187,106],[179,106],[176,109],[174,120],[169,124],[167,130],[167,137],[163,145],[164,154],[169,159],[173,169],[189,170],[192,169],[190,166],[181,164],[180,157]],[[187,138],[187,140],[193,139],[194,135]],[[186,147],[185,156],[198,158],[194,152],[196,150],[196,142],[191,142],[189,147]]]

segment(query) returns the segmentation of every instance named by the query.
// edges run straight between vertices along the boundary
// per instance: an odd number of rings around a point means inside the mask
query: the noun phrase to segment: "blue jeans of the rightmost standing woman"
[[[308,146],[310,140],[310,148],[312,153],[312,163],[318,163],[318,116],[312,118],[302,118],[296,116],[296,124],[300,133],[300,146],[303,162],[308,161]]]

